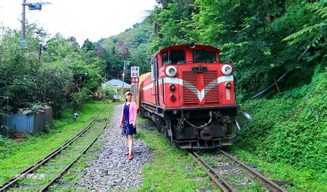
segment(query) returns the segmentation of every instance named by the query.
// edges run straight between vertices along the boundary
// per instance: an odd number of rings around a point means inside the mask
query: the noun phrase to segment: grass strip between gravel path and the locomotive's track
[[[148,119],[138,120],[139,127],[152,124]],[[187,151],[177,149],[157,130],[140,129],[135,138],[145,140],[154,155],[143,167],[144,180],[138,191],[195,191],[212,187],[210,177]]]

